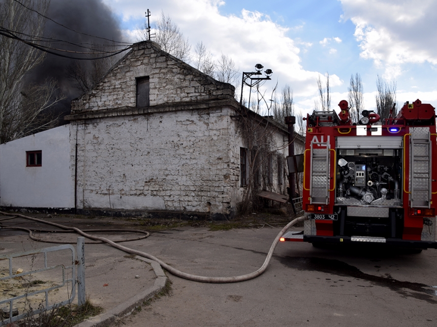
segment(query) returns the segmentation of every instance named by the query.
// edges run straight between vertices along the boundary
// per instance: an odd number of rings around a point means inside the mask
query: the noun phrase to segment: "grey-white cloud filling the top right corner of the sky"
[[[385,78],[402,74],[407,63],[437,64],[435,0],[340,0],[355,24],[360,56],[385,69]]]

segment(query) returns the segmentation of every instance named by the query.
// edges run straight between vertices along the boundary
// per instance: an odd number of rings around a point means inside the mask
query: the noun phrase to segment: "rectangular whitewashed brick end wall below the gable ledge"
[[[224,107],[72,124],[78,207],[232,215],[239,187],[233,114]]]

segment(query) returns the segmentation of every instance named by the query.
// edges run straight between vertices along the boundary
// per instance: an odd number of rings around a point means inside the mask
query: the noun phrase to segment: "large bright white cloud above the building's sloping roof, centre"
[[[142,0],[103,0],[123,20],[141,20],[144,12]],[[273,22],[269,16],[248,10],[239,15],[224,16],[219,7],[224,4],[219,0],[161,0],[147,4],[151,16],[151,25],[161,15],[161,10],[172,18],[185,37],[194,45],[203,42],[215,58],[224,53],[230,56],[241,71],[251,71],[256,63],[273,70],[273,81],[278,81],[278,90],[285,84],[293,86],[295,96],[312,96],[317,93],[317,71],[305,70],[301,65],[299,47],[308,48],[310,43],[293,40],[287,36],[290,29]],[[135,26],[126,35],[133,42]],[[338,39],[338,38],[337,38]],[[338,39],[339,40],[339,39]],[[338,42],[335,40],[335,42]],[[275,82],[265,84],[267,90]],[[331,85],[340,85],[340,79],[330,76]],[[267,91],[269,93],[271,91]]]

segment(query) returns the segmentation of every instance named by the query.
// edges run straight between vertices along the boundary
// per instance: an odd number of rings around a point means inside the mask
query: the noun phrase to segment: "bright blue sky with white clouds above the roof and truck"
[[[150,25],[161,12],[192,44],[230,56],[238,71],[256,63],[273,70],[266,92],[278,83],[294,91],[295,108],[311,112],[317,77],[330,76],[331,107],[347,99],[352,74],[363,81],[365,108],[375,107],[376,79],[397,84],[397,101],[420,98],[437,106],[437,1],[435,0],[103,0],[124,35],[137,41],[145,11]],[[240,73],[241,74],[241,73]]]

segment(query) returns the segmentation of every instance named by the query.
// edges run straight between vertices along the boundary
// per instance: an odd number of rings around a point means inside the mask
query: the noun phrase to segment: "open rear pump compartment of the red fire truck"
[[[337,154],[334,235],[401,238],[401,150],[337,149]]]

